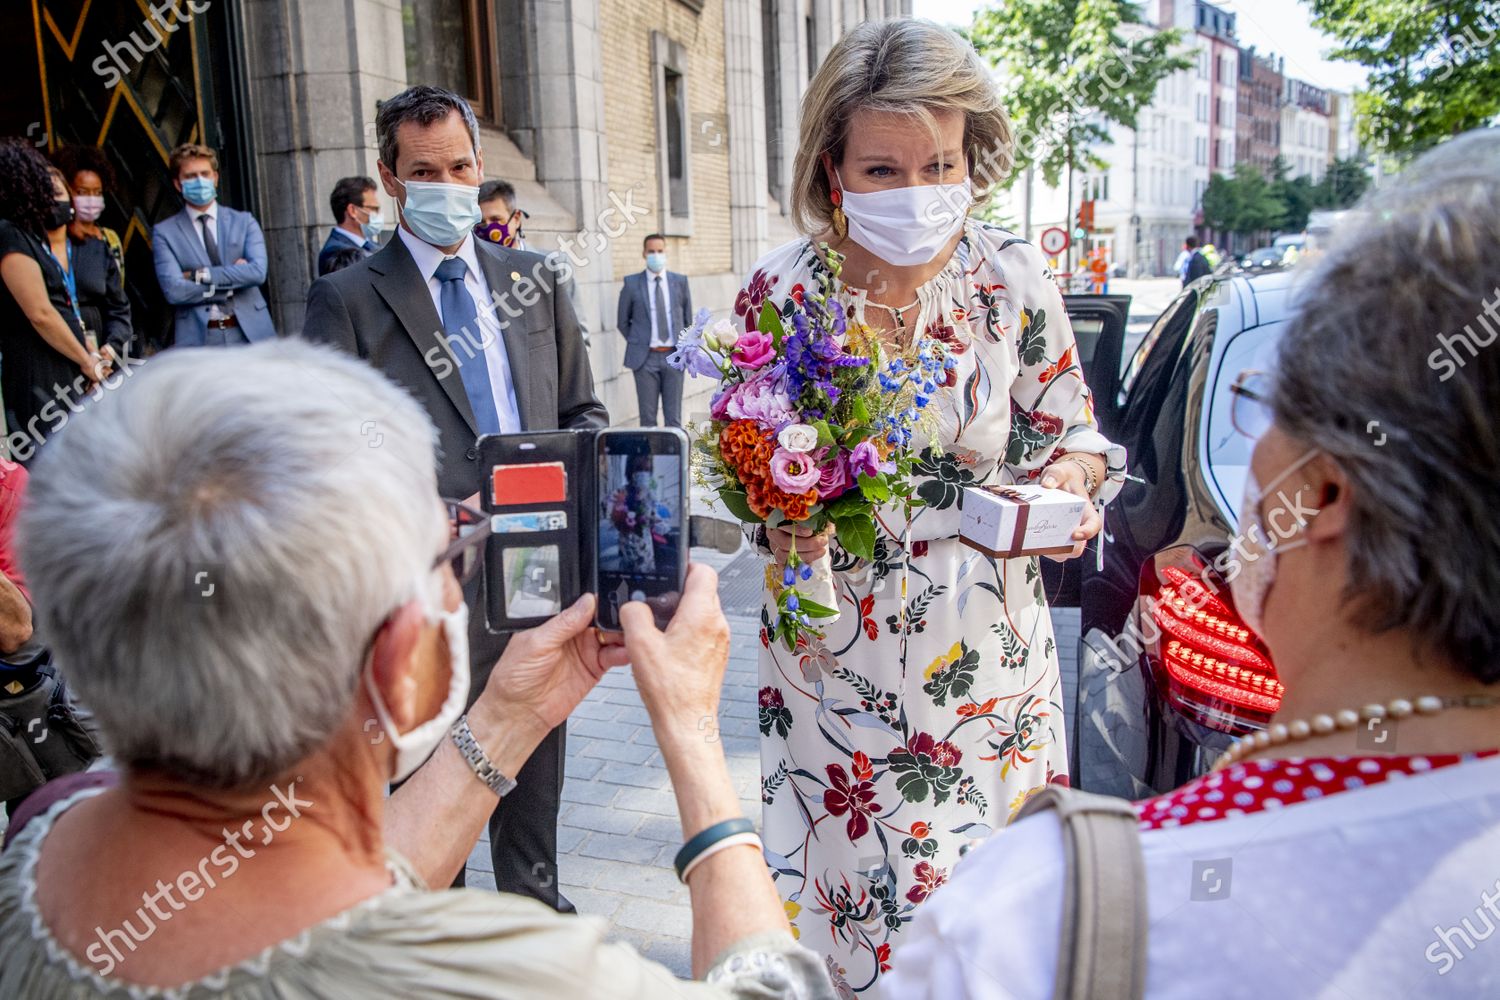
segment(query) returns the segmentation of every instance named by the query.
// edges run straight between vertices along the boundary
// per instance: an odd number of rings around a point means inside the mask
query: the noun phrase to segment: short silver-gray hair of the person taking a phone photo
[[[177,349],[38,459],[38,631],[126,768],[262,784],[322,747],[447,540],[434,430],[302,340]]]

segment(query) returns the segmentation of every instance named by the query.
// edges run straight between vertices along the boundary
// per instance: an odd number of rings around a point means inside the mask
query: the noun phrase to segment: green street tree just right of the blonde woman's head
[[[1006,0],[975,13],[968,36],[1004,70],[1011,178],[1035,166],[1053,186],[1070,166],[1104,168],[1094,147],[1110,141],[1108,123],[1134,129],[1156,84],[1192,66],[1176,52],[1182,31],[1149,30],[1130,0]],[[986,166],[975,165],[981,181]]]

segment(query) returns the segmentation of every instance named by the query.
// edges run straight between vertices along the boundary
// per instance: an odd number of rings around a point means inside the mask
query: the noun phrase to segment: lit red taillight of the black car
[[[1173,706],[1226,733],[1264,729],[1284,690],[1264,643],[1198,579],[1174,565],[1158,573],[1161,589],[1149,607]]]

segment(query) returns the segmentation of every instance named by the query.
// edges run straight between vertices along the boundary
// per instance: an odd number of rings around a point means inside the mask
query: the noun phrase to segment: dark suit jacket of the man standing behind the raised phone
[[[500,303],[496,318],[510,355],[522,427],[609,426],[609,414],[594,396],[594,373],[573,303],[556,294],[546,258],[478,241],[474,252],[490,295]],[[536,286],[528,285],[531,280]],[[507,310],[519,315],[512,318]],[[302,334],[368,360],[405,387],[438,429],[438,492],[464,499],[478,490],[474,409],[428,285],[399,235],[369,259],[312,283]],[[476,663],[488,660],[488,667],[494,664],[489,657],[498,657],[504,648],[504,639],[486,634],[483,604],[474,594],[468,598],[476,612],[470,619],[472,657]],[[483,679],[476,673],[476,693]]]

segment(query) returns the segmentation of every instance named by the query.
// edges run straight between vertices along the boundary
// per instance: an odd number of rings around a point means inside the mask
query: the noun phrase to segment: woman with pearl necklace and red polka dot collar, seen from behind
[[[1146,997],[1500,997],[1500,129],[1416,160],[1292,286],[1230,585],[1266,732],[1137,802]],[[960,862],[886,997],[1050,997],[1056,813]]]

